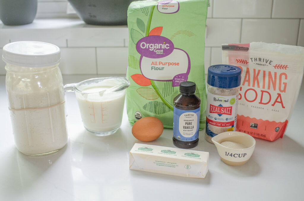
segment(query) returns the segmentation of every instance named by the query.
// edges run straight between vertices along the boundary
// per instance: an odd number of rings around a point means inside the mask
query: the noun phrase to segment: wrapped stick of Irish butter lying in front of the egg
[[[183,177],[205,178],[209,152],[134,144],[130,151],[129,168]]]

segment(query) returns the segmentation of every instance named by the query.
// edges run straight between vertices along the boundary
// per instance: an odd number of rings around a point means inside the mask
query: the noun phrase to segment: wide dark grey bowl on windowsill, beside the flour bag
[[[128,6],[134,0],[68,0],[87,24],[126,25]]]

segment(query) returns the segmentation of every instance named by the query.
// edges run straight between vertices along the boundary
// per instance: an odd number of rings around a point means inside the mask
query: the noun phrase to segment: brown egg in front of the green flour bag
[[[136,121],[132,127],[132,134],[140,141],[156,140],[163,133],[164,125],[156,117],[144,117]]]

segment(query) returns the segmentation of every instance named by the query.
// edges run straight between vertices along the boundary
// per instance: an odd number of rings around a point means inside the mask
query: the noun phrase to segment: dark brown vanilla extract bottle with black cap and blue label
[[[201,100],[195,93],[194,82],[181,82],[180,94],[174,98],[173,144],[193,148],[199,143],[199,111]]]

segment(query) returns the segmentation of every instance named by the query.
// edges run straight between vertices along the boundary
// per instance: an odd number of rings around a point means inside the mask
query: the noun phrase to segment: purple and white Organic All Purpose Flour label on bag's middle
[[[190,58],[188,53],[174,48],[170,39],[147,36],[136,43],[140,56],[140,70],[144,77],[157,81],[172,81],[172,86],[188,80]]]

